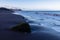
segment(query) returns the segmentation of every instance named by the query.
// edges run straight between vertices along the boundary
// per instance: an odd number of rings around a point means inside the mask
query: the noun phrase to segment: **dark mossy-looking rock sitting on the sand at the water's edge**
[[[19,32],[31,32],[31,28],[28,23],[20,23],[12,28],[13,31],[19,31]]]

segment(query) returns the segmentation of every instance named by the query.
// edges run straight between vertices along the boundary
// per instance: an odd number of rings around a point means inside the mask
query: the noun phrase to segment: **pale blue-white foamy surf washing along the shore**
[[[46,12],[46,13],[59,15],[60,12]],[[15,12],[14,14],[24,16],[30,25],[49,27],[60,32],[59,16],[45,15],[46,13],[45,12],[35,13],[33,11],[32,12],[19,11],[19,12]]]

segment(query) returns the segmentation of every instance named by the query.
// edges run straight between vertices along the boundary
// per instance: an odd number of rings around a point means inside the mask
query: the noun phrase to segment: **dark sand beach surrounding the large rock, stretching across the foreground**
[[[24,17],[20,15],[0,13],[0,40],[60,40],[59,35],[50,33],[51,31],[42,31],[43,29],[34,33],[22,33],[9,30],[9,28],[21,22],[26,21]]]

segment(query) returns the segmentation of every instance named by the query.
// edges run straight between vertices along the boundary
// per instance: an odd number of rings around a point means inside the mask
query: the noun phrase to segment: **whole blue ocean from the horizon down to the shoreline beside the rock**
[[[46,27],[60,32],[60,11],[16,11],[14,14],[25,17],[32,31]]]

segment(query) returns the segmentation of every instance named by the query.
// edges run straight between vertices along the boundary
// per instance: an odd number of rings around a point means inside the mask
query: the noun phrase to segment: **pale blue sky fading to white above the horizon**
[[[0,0],[0,7],[24,10],[60,10],[60,0]]]

